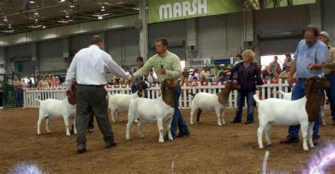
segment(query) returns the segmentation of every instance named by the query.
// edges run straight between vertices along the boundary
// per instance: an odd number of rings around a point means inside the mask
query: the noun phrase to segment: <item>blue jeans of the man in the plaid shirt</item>
[[[177,134],[177,127],[179,129],[180,134],[189,134],[189,129],[187,128],[187,124],[184,118],[182,117],[182,112],[180,112],[180,109],[178,108],[179,98],[181,94],[182,94],[182,88],[180,87],[180,85],[177,85],[175,93],[173,94],[173,102],[175,103],[175,113],[173,114],[171,122],[171,134],[174,139]]]

